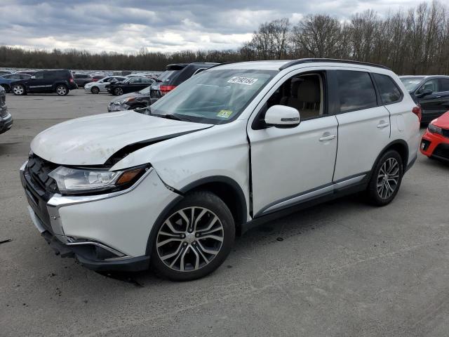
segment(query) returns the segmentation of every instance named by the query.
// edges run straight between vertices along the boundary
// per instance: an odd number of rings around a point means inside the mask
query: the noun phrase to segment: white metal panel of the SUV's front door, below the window
[[[321,141],[323,136],[335,138]],[[302,121],[295,128],[248,126],[253,172],[253,211],[332,182],[337,152],[335,116]]]

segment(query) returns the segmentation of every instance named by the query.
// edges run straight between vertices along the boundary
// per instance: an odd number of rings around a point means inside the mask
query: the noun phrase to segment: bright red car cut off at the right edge
[[[429,123],[420,150],[427,157],[449,161],[449,111]]]

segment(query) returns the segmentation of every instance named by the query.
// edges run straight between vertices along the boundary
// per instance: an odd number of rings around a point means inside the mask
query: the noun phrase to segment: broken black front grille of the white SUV
[[[58,164],[53,164],[50,161],[46,161],[35,154],[32,154],[28,159],[27,169],[29,176],[33,183],[41,187],[42,190],[50,193],[58,193],[58,185],[56,181],[48,176],[54,169],[58,167]]]

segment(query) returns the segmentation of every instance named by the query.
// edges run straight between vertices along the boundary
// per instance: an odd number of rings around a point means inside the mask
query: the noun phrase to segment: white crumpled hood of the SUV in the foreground
[[[133,111],[96,114],[42,131],[32,140],[31,150],[55,164],[101,165],[127,145],[180,136],[210,126]]]

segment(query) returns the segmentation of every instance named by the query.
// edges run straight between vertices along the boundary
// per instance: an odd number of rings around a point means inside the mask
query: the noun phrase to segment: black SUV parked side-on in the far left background
[[[35,72],[29,79],[14,81],[12,91],[14,95],[26,95],[27,93],[67,95],[70,90],[76,88],[78,86],[70,70],[42,70]]]

